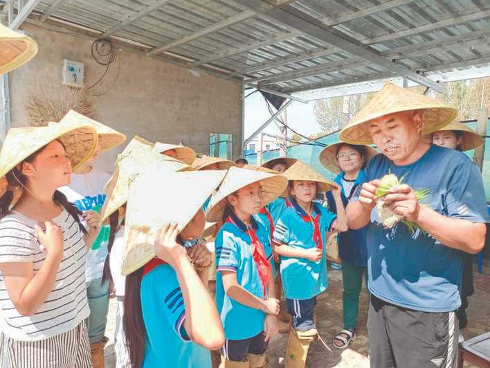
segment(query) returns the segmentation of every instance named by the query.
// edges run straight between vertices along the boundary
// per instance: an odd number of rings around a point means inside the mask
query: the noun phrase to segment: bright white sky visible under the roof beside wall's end
[[[251,90],[245,91],[245,93],[250,93]],[[294,101],[287,107],[287,120],[288,125],[300,134],[309,136],[309,134],[318,133],[321,131],[320,125],[316,122],[315,115],[313,112],[314,101],[309,103],[300,103]],[[274,107],[272,108],[275,112]],[[257,130],[260,125],[265,123],[271,114],[267,105],[265,103],[264,97],[260,92],[255,92],[245,99],[245,139],[251,136],[255,130]],[[267,128],[264,129],[265,133],[268,134],[279,134],[278,126],[275,122],[269,124]],[[288,136],[291,137],[293,133],[288,132]]]

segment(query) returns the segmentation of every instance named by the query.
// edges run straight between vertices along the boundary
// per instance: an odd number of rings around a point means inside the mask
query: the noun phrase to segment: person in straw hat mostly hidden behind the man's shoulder
[[[433,132],[432,143],[437,146],[451,148],[452,150],[467,151],[480,147],[483,144],[483,138],[469,126],[459,121],[453,121],[444,128],[437,130],[437,132]],[[463,253],[463,256],[463,276],[460,287],[461,306],[457,310],[457,319],[460,323],[460,342],[464,341],[462,330],[468,326],[468,317],[466,315],[468,297],[475,292],[473,288],[473,256],[467,253]]]

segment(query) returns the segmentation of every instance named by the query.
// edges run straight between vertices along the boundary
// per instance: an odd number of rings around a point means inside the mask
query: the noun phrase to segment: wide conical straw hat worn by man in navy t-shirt
[[[418,94],[388,82],[354,119],[341,130],[341,140],[352,144],[372,144],[369,122],[373,119],[410,110],[419,110],[422,117],[422,134],[430,134],[453,121],[457,111],[441,100]]]

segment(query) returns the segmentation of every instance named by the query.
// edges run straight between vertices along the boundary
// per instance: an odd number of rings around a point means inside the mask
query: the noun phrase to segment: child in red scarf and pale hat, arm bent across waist
[[[232,167],[211,199],[206,219],[224,222],[215,240],[216,304],[226,337],[222,367],[264,367],[278,332],[269,236],[253,215],[286,186],[282,175]]]

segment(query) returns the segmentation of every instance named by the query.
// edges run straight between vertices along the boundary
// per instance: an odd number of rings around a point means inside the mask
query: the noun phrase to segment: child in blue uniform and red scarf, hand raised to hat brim
[[[281,278],[293,326],[289,332],[286,367],[305,367],[309,344],[318,335],[314,322],[316,297],[327,289],[326,233],[346,231],[341,189],[296,161],[284,176],[287,208],[275,225],[275,252],[281,256]],[[316,193],[332,190],[337,214],[314,202]]]

